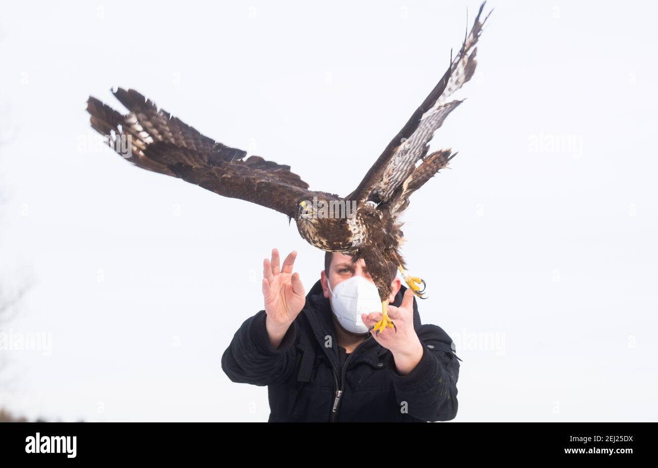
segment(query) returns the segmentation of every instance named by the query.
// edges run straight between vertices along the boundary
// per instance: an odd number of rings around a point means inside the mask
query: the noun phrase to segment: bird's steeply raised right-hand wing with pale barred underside
[[[480,20],[485,3],[480,6],[470,33],[457,57],[451,59],[450,66],[441,81],[418,107],[409,122],[388,143],[384,153],[368,170],[357,189],[345,199],[359,202],[372,200],[376,203],[389,201],[394,195],[396,197],[399,195],[403,182],[413,174],[418,161],[426,160],[428,143],[432,140],[434,132],[442,125],[449,113],[462,103],[462,100],[448,101],[448,98],[470,80],[475,72],[477,51],[475,45],[482,32],[482,26],[489,16]],[[425,169],[427,166],[423,168]]]

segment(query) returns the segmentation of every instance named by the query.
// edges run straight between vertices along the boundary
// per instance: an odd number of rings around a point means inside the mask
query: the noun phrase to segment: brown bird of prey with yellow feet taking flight
[[[459,53],[451,54],[440,82],[346,197],[309,190],[309,184],[290,166],[247,157],[246,151],[216,142],[135,90],[113,91],[128,109],[126,115],[89,97],[91,126],[137,167],[274,209],[289,221],[294,219],[299,234],[311,245],[351,255],[353,261],[363,259],[382,301],[382,320],[370,330],[378,334],[388,327],[397,332],[387,314],[396,267],[418,298],[425,298],[426,286],[424,280],[407,273],[400,252],[404,238],[399,217],[409,205],[409,196],[447,167],[456,154],[451,149],[428,154],[428,143],[447,115],[463,102],[450,97],[474,74],[475,45],[488,18],[480,19],[483,9],[484,3]],[[337,216],[327,207],[338,207],[339,212],[344,207],[344,211]]]

